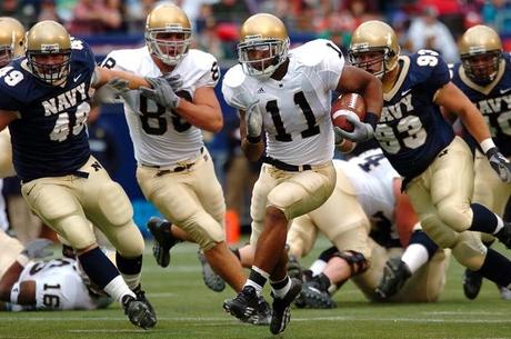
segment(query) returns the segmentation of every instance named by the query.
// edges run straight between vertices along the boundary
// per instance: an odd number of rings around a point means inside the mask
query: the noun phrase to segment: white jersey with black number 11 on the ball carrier
[[[328,40],[313,40],[289,52],[289,67],[281,80],[260,81],[244,74],[240,64],[226,73],[226,101],[263,116],[267,156],[290,164],[319,164],[333,157],[330,117],[331,91],[338,87],[344,58]]]

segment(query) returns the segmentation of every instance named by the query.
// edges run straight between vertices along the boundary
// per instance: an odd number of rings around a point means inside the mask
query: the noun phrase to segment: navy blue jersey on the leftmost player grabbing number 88
[[[0,109],[19,111],[9,124],[14,169],[22,180],[76,172],[90,157],[86,121],[96,62],[89,46],[72,40],[66,84],[51,86],[21,58],[0,72]]]

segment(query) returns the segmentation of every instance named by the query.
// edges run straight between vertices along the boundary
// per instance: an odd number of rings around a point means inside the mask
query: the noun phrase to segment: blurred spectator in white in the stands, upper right
[[[413,52],[431,49],[441,53],[447,62],[459,60],[454,38],[449,28],[438,20],[434,7],[424,7],[421,16],[412,19],[408,37]]]

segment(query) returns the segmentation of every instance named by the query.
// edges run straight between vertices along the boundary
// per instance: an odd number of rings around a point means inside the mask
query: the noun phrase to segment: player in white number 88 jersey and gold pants
[[[122,93],[137,180],[144,197],[170,221],[148,222],[157,262],[169,265],[176,242],[197,242],[213,270],[241,291],[247,277],[226,243],[223,191],[202,138],[202,130],[218,132],[223,126],[214,93],[220,69],[212,54],[190,49],[191,33],[179,7],[158,6],[147,18],[146,47],[112,51],[102,67],[142,77],[163,74],[171,83],[164,92]],[[263,312],[268,320],[268,307]]]

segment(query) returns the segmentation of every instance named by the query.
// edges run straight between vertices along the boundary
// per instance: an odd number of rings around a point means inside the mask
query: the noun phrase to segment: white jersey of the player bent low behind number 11
[[[400,176],[381,149],[365,151],[349,161],[334,160],[333,164],[350,179],[357,200],[373,225],[387,223],[391,232],[389,236],[399,239],[394,222],[393,180]]]

